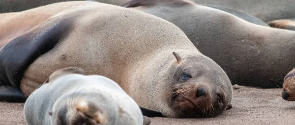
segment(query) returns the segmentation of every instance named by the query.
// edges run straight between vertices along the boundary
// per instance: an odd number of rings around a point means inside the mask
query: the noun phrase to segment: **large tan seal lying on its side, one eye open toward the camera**
[[[29,25],[30,15],[47,19]],[[150,14],[71,1],[0,19],[6,21],[1,26],[13,25],[1,28],[5,40],[12,39],[0,51],[1,85],[27,96],[54,71],[78,67],[116,81],[139,106],[165,117],[214,117],[232,99],[222,68],[176,25]]]

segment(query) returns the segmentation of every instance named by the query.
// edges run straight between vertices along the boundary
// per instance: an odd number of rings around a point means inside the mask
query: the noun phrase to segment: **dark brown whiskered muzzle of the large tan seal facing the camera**
[[[178,118],[213,117],[214,100],[208,89],[204,86],[193,90],[178,89],[170,99],[170,107]]]

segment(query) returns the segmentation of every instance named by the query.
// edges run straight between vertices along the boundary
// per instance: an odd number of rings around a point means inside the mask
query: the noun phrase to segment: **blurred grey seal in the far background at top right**
[[[193,0],[207,6],[218,5],[249,13],[264,22],[295,18],[294,0]]]

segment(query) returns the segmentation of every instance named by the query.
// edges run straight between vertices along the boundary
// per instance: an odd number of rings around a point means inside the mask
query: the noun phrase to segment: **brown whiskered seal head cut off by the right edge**
[[[290,71],[284,78],[282,98],[284,100],[295,101],[295,69]]]

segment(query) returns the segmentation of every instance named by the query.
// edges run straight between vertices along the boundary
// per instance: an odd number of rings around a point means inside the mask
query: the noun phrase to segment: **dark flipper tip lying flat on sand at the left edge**
[[[26,100],[27,97],[20,89],[7,85],[0,86],[0,101],[25,102]]]

